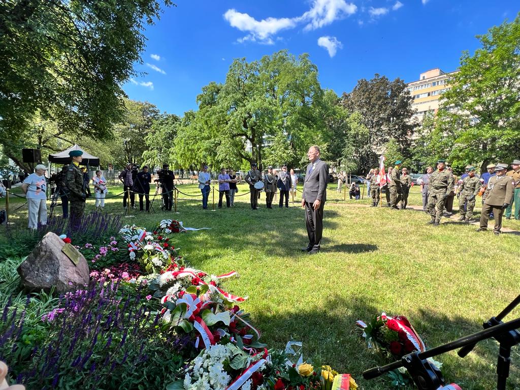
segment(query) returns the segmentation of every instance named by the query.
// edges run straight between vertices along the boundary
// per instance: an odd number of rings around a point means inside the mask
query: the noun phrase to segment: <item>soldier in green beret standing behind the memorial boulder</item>
[[[65,175],[65,185],[69,190],[70,224],[73,229],[81,225],[81,218],[85,211],[85,199],[87,198],[83,187],[83,173],[80,169],[80,163],[83,160],[82,154],[81,150],[69,152],[72,163],[69,164],[69,170]]]

